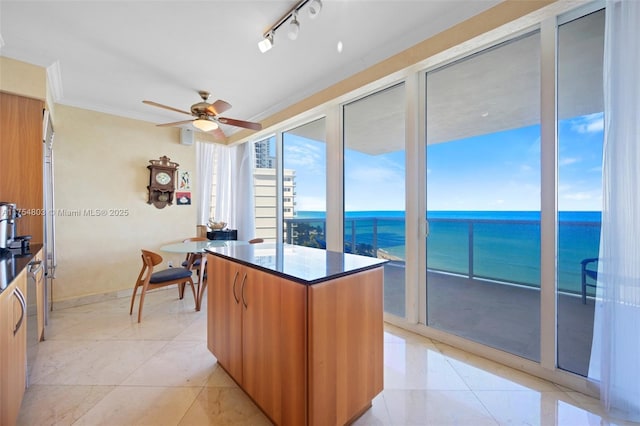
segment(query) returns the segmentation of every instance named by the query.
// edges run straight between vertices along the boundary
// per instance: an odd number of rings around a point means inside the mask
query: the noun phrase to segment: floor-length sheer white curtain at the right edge
[[[606,4],[603,208],[589,377],[640,421],[640,1]]]

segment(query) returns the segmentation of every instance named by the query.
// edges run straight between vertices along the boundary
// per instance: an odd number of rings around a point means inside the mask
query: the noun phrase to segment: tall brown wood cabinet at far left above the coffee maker
[[[0,92],[0,201],[25,212],[17,235],[43,242],[42,112],[44,102]]]

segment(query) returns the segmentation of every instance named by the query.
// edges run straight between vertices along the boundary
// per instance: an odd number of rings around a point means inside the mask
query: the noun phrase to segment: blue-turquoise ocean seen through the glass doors
[[[296,219],[317,226],[324,222],[325,214],[299,211]],[[540,286],[540,212],[428,211],[427,219],[428,269]],[[600,212],[559,213],[561,291],[580,293],[580,261],[598,257],[600,222]],[[403,211],[352,211],[345,215],[345,240],[352,247],[368,244],[402,260],[404,234]]]

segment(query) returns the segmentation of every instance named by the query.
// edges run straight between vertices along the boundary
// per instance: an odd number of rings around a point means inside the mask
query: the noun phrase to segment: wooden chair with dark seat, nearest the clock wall
[[[191,280],[192,271],[186,268],[167,268],[162,271],[154,272],[156,265],[162,263],[162,256],[149,250],[142,250],[142,269],[138,275],[135,287],[133,287],[133,295],[131,296],[131,307],[129,315],[133,313],[133,303],[136,299],[138,288],[142,288],[140,294],[140,302],[138,303],[138,322],[142,319],[142,307],[144,306],[144,296],[147,291],[155,288],[166,287],[168,285],[178,285],[178,296],[180,299],[184,297],[184,287],[189,284],[193,292],[193,300],[198,302],[196,291]]]

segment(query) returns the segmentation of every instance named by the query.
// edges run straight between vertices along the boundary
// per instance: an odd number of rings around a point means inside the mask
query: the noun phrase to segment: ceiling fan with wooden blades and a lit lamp
[[[213,103],[208,103],[209,92],[201,90],[198,92],[202,98],[202,102],[191,105],[191,112],[183,111],[181,109],[173,108],[167,105],[162,105],[153,101],[142,101],[147,105],[156,106],[159,108],[168,109],[170,111],[180,112],[195,117],[191,120],[176,121],[173,123],[158,124],[159,127],[171,127],[179,126],[181,124],[192,123],[193,126],[203,132],[210,132],[214,137],[225,140],[226,135],[220,129],[220,124],[228,124],[230,126],[243,127],[251,130],[262,130],[262,124],[253,123],[251,121],[236,120],[235,118],[220,117],[219,115],[231,108],[231,104],[218,99]]]

